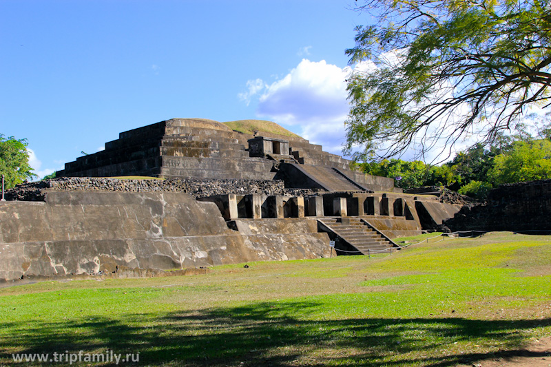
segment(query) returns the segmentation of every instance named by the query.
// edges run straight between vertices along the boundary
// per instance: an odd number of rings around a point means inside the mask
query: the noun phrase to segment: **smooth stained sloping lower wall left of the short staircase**
[[[185,193],[47,190],[45,201],[0,202],[0,282],[23,275],[189,269],[331,256],[315,219],[247,221],[229,229],[211,202]],[[268,228],[267,227],[267,228]]]

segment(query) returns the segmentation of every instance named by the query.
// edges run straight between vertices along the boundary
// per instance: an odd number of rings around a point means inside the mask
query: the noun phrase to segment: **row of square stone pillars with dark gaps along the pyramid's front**
[[[199,198],[214,202],[225,220],[328,216],[399,216],[413,220],[415,205],[396,194],[328,193],[320,196],[266,196],[234,193]]]

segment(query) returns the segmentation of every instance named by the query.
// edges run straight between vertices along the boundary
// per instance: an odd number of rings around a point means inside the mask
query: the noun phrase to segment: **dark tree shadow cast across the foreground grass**
[[[551,325],[551,319],[506,321],[449,317],[317,321],[308,317],[318,312],[320,306],[316,302],[262,302],[194,312],[87,317],[34,322],[32,331],[26,329],[26,324],[3,324],[0,332],[8,336],[0,339],[0,361],[15,364],[7,351],[16,349],[19,353],[112,350],[139,353],[138,363],[125,365],[455,366],[498,356],[470,350],[461,354],[453,351],[455,343],[475,345],[499,341],[503,353],[510,354],[525,340],[518,329]],[[296,315],[300,315],[300,319]],[[450,351],[443,353],[442,349]]]

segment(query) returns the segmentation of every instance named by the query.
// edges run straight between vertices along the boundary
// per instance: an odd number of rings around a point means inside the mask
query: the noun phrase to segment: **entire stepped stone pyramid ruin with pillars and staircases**
[[[0,203],[0,279],[367,255],[461,207],[308,140],[203,119],[123,132],[57,176]]]

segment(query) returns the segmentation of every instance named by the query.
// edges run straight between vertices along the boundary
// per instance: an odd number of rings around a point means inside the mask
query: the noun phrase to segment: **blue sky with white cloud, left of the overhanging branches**
[[[168,118],[261,118],[340,154],[349,0],[0,0],[0,133],[40,176]]]

